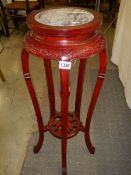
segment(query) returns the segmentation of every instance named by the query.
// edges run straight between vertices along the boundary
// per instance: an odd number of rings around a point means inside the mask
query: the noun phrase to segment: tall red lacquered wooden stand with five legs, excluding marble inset
[[[63,8],[63,10],[64,9],[65,8]],[[67,139],[72,138],[79,131],[82,131],[84,132],[85,142],[89,152],[91,154],[94,154],[95,152],[95,148],[90,139],[90,123],[106,71],[106,41],[98,30],[102,24],[102,16],[99,13],[87,9],[73,7],[72,10],[83,10],[90,12],[94,18],[87,23],[71,26],[53,26],[46,23],[41,23],[39,21],[39,17],[41,18],[41,15],[38,14],[45,13],[46,15],[47,11],[52,10],[54,9],[35,11],[27,17],[27,25],[30,31],[26,34],[24,39],[22,49],[22,67],[39,128],[39,139],[34,147],[34,152],[39,152],[43,144],[44,132],[50,131],[53,136],[60,138],[62,152],[62,174],[66,175]],[[38,18],[36,18],[36,16]],[[42,114],[31,81],[29,72],[29,54],[33,54],[44,61],[50,106],[50,120],[48,125],[43,124]],[[86,123],[83,125],[80,121],[80,107],[86,62],[87,59],[96,54],[99,55],[100,68],[87,112]],[[51,60],[53,59],[59,62],[60,70],[61,111],[59,113],[55,110],[54,83],[51,69]],[[71,62],[74,59],[80,60],[75,110],[74,112],[68,112],[68,101],[70,96],[69,74]]]

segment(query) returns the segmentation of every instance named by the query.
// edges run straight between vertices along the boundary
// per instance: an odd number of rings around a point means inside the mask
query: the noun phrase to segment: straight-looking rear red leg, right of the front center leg
[[[86,70],[87,60],[80,60],[79,64],[79,72],[78,72],[78,80],[77,80],[77,90],[76,90],[76,101],[75,101],[75,112],[78,117],[80,117],[80,108],[81,108],[81,99],[82,99],[82,91],[83,91],[83,82],[84,75]]]

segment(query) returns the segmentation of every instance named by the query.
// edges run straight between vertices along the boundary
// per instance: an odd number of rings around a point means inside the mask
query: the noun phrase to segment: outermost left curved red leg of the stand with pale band
[[[43,121],[42,121],[42,115],[40,112],[40,107],[37,101],[36,93],[35,93],[35,90],[34,90],[34,87],[31,81],[30,73],[29,73],[29,53],[26,52],[25,49],[22,50],[21,59],[22,59],[22,68],[23,68],[24,78],[26,81],[28,91],[30,93],[30,97],[32,99],[32,103],[33,103],[34,110],[36,113],[38,128],[39,128],[39,140],[38,140],[37,145],[34,147],[34,153],[38,153],[43,144],[43,140],[44,140],[44,132],[43,132],[44,126],[43,126]]]

